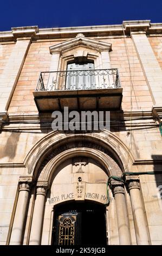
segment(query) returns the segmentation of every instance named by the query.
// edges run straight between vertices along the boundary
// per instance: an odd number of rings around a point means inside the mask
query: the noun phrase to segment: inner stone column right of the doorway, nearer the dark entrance
[[[122,182],[112,180],[111,188],[115,198],[120,245],[131,245],[124,184]]]

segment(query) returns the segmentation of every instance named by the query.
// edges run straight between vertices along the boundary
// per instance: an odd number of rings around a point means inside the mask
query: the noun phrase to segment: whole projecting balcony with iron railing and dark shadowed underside
[[[39,112],[116,110],[122,100],[118,69],[41,72],[33,94]]]

